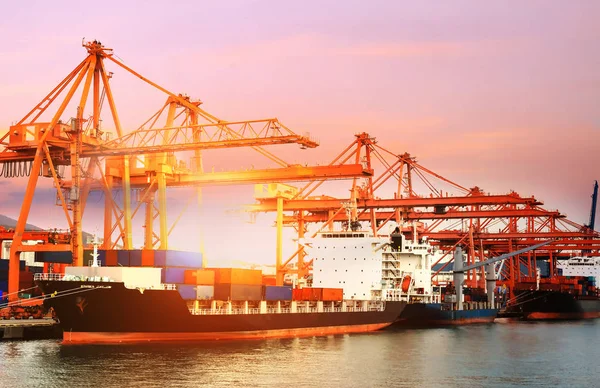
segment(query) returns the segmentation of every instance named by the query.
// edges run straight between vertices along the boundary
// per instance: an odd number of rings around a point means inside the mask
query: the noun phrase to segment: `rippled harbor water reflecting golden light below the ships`
[[[235,342],[0,342],[13,387],[594,387],[600,320]]]

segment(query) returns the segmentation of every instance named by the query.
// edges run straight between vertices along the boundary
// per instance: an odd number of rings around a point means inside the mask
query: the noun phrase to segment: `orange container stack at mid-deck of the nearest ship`
[[[263,297],[262,271],[243,268],[212,268],[216,300],[259,301]]]

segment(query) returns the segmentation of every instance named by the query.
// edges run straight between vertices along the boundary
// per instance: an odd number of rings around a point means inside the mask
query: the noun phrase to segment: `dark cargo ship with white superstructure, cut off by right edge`
[[[563,276],[525,277],[514,286],[514,299],[502,316],[527,321],[600,318],[595,281],[600,257],[573,257],[558,262]]]

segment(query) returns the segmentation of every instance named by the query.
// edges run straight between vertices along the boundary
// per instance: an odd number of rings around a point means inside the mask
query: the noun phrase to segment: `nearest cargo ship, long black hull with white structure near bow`
[[[310,300],[293,300],[291,287],[286,288],[286,296],[269,296],[265,286],[231,283],[215,283],[207,293],[209,286],[166,284],[161,280],[164,273],[164,268],[92,265],[67,267],[64,275],[36,274],[35,281],[46,295],[44,306],[54,310],[67,344],[371,332],[391,325],[406,305],[402,301],[343,300],[341,292],[339,298],[330,298],[337,300],[323,300],[327,299],[323,292]],[[227,276],[227,281],[235,280],[233,271]],[[195,293],[186,296],[190,287]]]

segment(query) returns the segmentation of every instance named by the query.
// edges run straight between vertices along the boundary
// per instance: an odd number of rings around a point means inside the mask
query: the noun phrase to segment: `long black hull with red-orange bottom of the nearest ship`
[[[192,314],[176,290],[128,289],[123,283],[38,281],[67,343],[119,343],[296,337],[369,332],[392,324],[405,302],[382,311]]]

